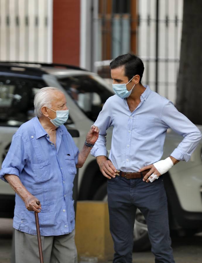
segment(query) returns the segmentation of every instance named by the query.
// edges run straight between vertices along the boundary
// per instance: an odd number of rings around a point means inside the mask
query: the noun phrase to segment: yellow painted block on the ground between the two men
[[[113,259],[107,202],[77,202],[75,243],[79,257],[97,257],[99,262]]]

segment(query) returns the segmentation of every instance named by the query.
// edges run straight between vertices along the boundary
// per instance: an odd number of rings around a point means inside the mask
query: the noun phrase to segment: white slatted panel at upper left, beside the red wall
[[[52,1],[0,0],[1,61],[52,62]]]

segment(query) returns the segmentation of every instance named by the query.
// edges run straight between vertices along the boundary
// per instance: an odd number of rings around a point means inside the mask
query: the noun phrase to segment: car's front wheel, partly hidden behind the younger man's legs
[[[107,182],[100,186],[93,200],[107,201]],[[143,251],[150,249],[151,244],[148,237],[147,224],[143,214],[139,209],[136,211],[136,219],[133,230],[133,251]]]

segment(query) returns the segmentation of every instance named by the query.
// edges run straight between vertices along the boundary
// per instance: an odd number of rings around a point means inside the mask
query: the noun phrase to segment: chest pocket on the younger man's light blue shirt
[[[155,118],[140,118],[134,119],[134,131],[141,135],[150,134],[153,132]]]

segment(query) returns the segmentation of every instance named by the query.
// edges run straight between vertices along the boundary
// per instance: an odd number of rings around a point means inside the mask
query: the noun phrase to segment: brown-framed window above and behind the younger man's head
[[[95,60],[111,60],[119,55],[136,54],[138,15],[137,0],[99,0],[98,18],[93,27],[97,32],[93,45],[97,46]],[[102,63],[101,63],[102,64]],[[105,68],[98,69],[101,76]]]

